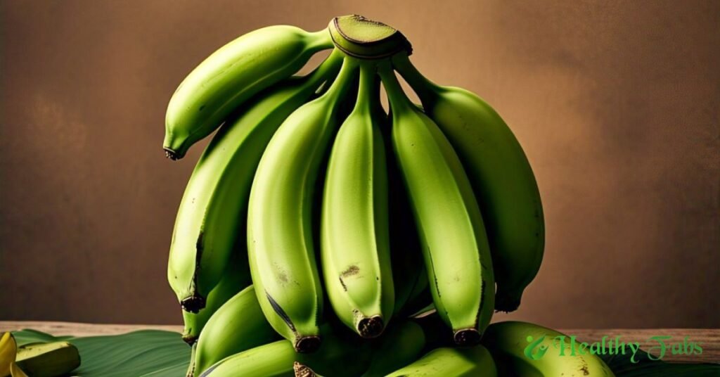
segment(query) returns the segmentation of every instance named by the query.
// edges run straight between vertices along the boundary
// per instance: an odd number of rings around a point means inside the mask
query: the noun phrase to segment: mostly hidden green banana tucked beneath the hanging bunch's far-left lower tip
[[[186,310],[182,311],[185,325],[182,340],[187,344],[192,345],[197,341],[197,337],[200,336],[200,332],[207,321],[212,318],[215,311],[217,311],[225,301],[228,301],[250,284],[250,275],[246,271],[247,262],[244,258],[245,255],[233,254],[230,256],[230,266],[225,268],[220,282],[208,293],[207,302],[203,309],[200,309],[197,313]]]

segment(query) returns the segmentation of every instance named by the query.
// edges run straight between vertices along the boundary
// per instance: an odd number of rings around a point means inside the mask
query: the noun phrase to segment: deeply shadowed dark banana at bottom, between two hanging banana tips
[[[418,359],[425,346],[423,328],[414,321],[403,321],[383,334],[374,350],[369,368],[362,377],[382,377]]]

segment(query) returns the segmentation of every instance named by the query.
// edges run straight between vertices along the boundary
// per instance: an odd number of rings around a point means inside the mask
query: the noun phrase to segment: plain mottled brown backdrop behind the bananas
[[[720,1],[438,3],[1,1],[0,320],[179,324],[168,244],[204,143],[163,157],[170,95],[240,34],[359,13],[526,148],[546,257],[496,318],[720,327]]]

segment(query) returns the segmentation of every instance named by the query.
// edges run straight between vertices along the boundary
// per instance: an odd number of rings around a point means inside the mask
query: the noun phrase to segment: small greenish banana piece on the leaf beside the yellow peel
[[[37,343],[19,347],[15,363],[32,377],[65,376],[80,366],[80,353],[68,342]]]

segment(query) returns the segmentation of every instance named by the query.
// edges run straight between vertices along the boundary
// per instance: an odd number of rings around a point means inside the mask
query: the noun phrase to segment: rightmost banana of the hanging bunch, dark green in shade
[[[393,63],[462,160],[487,227],[498,284],[495,309],[514,311],[540,269],[545,244],[540,192],[523,148],[477,95],[433,84],[405,53]]]

